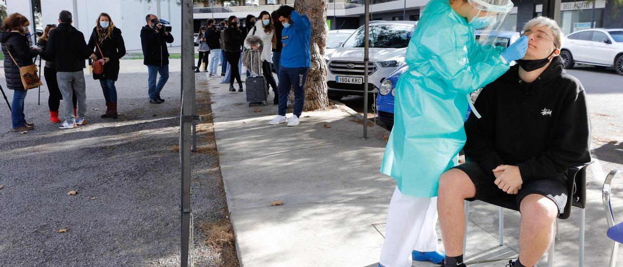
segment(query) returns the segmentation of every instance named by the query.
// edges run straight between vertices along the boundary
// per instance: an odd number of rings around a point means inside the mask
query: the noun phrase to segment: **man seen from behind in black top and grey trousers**
[[[84,60],[88,57],[96,60],[97,56],[89,49],[84,40],[84,34],[72,26],[72,13],[60,11],[59,27],[50,31],[45,52],[54,59],[56,78],[60,93],[66,101],[63,109],[65,121],[60,129],[73,129],[76,125],[86,124],[87,115],[87,86],[84,80]],[[69,101],[76,96],[78,103],[77,113]]]

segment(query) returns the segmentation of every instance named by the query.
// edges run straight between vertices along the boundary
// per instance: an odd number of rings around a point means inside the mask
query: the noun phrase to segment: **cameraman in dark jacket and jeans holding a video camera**
[[[150,103],[161,104],[164,99],[160,97],[160,91],[169,79],[169,51],[167,43],[173,42],[173,35],[167,31],[163,21],[154,14],[145,17],[147,25],[141,29],[141,46],[143,47],[143,64],[148,70],[148,95]],[[156,77],[160,74],[158,84]]]

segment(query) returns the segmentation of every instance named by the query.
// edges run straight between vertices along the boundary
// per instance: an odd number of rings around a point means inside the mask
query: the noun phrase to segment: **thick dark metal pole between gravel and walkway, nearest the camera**
[[[179,159],[181,163],[181,266],[189,265],[191,230],[191,125],[194,119],[194,41],[193,1],[182,1],[182,80],[179,130]]]

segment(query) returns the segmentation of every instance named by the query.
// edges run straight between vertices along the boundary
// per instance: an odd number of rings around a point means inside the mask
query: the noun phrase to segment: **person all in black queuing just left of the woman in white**
[[[238,61],[240,61],[241,47],[244,39],[247,37],[240,29],[238,29],[238,18],[230,16],[229,27],[225,29],[223,34],[223,43],[225,46],[225,59],[231,66],[231,79],[229,79],[229,90],[235,92],[234,79],[238,81],[238,92],[242,92],[242,80],[240,80],[240,70],[238,69]]]

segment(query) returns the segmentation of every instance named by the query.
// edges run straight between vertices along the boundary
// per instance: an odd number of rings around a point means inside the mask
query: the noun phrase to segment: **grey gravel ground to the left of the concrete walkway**
[[[100,119],[102,91],[87,76],[88,124],[73,130],[50,124],[45,87],[41,105],[29,91],[25,113],[37,126],[27,134],[11,132],[0,103],[0,265],[179,265],[180,170],[172,148],[180,73],[171,73],[160,105],[147,102],[146,76],[120,74],[118,120]],[[221,255],[202,245],[197,225],[221,220],[226,206],[217,156],[193,154],[192,201],[195,263],[215,266]]]

